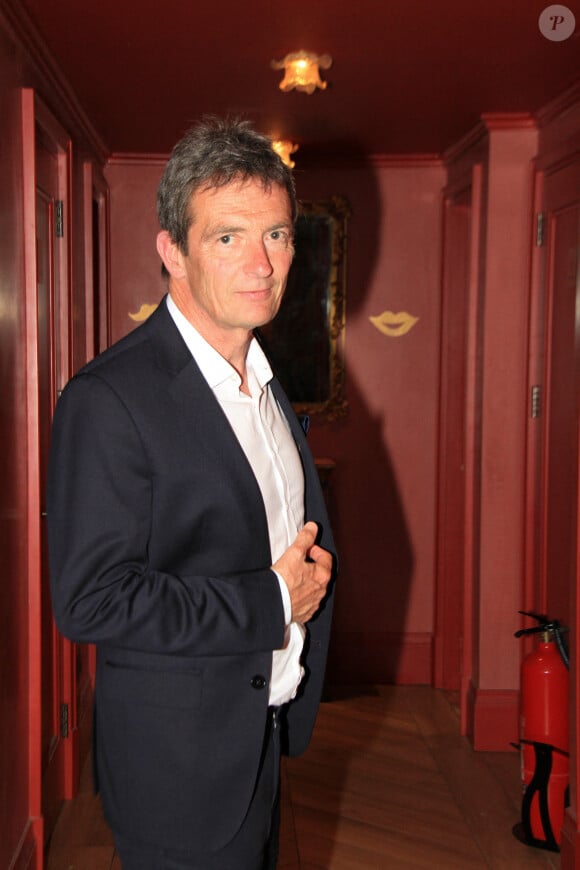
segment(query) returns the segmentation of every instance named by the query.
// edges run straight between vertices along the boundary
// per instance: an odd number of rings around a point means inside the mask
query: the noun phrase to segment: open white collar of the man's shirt
[[[167,310],[211,389],[215,390],[231,379],[235,379],[239,386],[241,379],[235,368],[192,326],[171,298],[171,294],[167,295]],[[252,338],[248,349],[246,366],[248,372],[253,373],[260,389],[272,380],[270,363],[255,338]]]

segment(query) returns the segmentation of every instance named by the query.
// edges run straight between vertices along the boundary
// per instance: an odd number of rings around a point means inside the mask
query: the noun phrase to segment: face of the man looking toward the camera
[[[272,320],[282,301],[294,252],[288,194],[257,179],[234,181],[197,191],[191,208],[181,254],[186,314],[210,341],[245,336]]]

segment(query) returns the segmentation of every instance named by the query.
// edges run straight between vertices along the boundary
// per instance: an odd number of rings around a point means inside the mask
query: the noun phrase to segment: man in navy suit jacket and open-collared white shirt
[[[56,409],[54,612],[97,644],[95,769],[123,870],[275,867],[280,743],[302,752],[314,725],[334,545],[253,335],[295,209],[269,140],[190,131],[158,190],[168,295]]]

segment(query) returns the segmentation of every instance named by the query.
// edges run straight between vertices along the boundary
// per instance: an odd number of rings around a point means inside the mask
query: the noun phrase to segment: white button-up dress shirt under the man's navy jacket
[[[272,562],[294,541],[304,525],[304,472],[286,417],[270,389],[272,369],[256,339],[252,339],[246,370],[251,395],[240,389],[242,379],[167,297],[167,308],[202,375],[220,403],[254,472],[266,509]],[[278,576],[284,606],[284,647],[274,650],[269,704],[291,700],[304,669],[300,655],[304,626],[291,622],[290,595]]]

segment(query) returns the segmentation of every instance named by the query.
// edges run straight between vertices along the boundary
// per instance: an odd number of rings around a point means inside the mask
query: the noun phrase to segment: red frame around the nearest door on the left
[[[39,475],[39,401],[38,401],[38,302],[36,257],[36,128],[40,126],[55,147],[58,161],[59,198],[64,205],[63,256],[59,258],[57,318],[59,343],[57,372],[61,389],[71,370],[71,222],[70,190],[72,168],[71,138],[58,124],[31,88],[21,89],[21,130],[23,161],[23,226],[24,226],[24,306],[25,306],[25,403],[26,430],[23,433],[26,453],[27,498],[27,592],[28,592],[28,796],[29,817],[34,832],[35,870],[43,862],[46,829],[43,810],[42,770],[42,599],[41,599],[41,492]],[[60,641],[59,641],[60,643]],[[61,685],[62,700],[69,704],[74,725],[74,669],[72,644],[62,640]],[[69,732],[74,734],[74,728]],[[77,775],[77,753],[73,739],[62,741],[59,765],[59,790],[62,798],[72,796]]]

